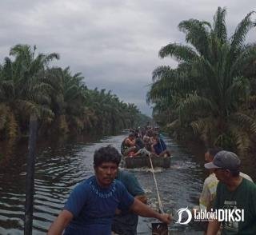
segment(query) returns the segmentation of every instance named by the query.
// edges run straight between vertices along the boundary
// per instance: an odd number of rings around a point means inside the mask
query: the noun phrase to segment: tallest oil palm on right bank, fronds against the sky
[[[246,44],[246,34],[255,26],[254,12],[246,15],[228,38],[226,9],[218,7],[213,25],[190,19],[178,25],[188,45],[170,43],[159,56],[178,60],[178,68],[158,67],[148,99],[165,100],[175,113],[175,124],[192,126],[207,145],[250,146],[256,133],[254,118],[246,114],[250,82],[246,66],[255,61],[256,48]],[[243,109],[241,109],[243,107]]]

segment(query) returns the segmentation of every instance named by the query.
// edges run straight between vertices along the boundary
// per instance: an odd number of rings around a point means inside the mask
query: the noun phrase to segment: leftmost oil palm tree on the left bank
[[[50,85],[45,81],[44,71],[58,54],[35,55],[36,47],[16,45],[10,50],[10,56],[0,68],[0,102],[5,110],[2,120],[8,114],[11,120],[6,123],[7,136],[15,136],[27,129],[31,114],[38,118],[51,117]]]

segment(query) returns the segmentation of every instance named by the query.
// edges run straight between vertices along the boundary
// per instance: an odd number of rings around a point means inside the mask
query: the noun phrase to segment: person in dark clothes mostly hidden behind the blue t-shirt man
[[[133,173],[119,169],[116,179],[118,179],[118,181],[121,181],[126,186],[127,191],[133,197],[146,204],[147,198],[145,192]],[[114,234],[136,235],[137,225],[137,214],[132,213],[130,210],[121,211],[118,209],[112,223],[112,231],[114,232]]]

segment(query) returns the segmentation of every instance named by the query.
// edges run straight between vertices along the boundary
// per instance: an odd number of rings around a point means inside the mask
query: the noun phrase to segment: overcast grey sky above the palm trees
[[[169,42],[184,42],[178,23],[189,18],[212,22],[218,6],[227,7],[229,34],[255,0],[1,0],[1,63],[18,43],[57,52],[56,65],[82,72],[90,89],[112,90],[134,102],[143,114],[151,73],[157,66],[176,66],[158,58]],[[255,41],[251,32],[249,41]]]

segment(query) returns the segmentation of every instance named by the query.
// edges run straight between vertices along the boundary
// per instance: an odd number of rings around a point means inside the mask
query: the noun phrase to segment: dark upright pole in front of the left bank
[[[37,140],[38,118],[35,115],[30,116],[30,138],[29,154],[26,162],[26,205],[25,205],[25,226],[24,234],[32,234],[33,225],[33,206],[34,206],[34,162],[35,146]]]

